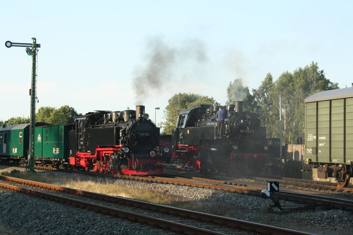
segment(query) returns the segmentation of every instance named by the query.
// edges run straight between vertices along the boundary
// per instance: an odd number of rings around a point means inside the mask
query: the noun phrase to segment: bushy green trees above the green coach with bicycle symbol
[[[55,107],[40,107],[36,113],[36,122],[46,122],[52,125],[73,123],[77,116],[82,115],[68,105],[63,105],[59,109]]]

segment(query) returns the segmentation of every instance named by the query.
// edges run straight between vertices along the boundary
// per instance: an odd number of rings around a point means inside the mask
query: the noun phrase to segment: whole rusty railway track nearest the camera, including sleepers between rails
[[[178,234],[303,234],[300,231],[0,175],[0,187]]]

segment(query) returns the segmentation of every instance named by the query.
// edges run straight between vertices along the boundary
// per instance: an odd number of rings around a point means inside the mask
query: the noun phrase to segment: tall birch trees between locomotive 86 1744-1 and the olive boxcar
[[[304,99],[317,92],[337,88],[338,84],[325,78],[324,70],[320,70],[314,62],[295,69],[293,73],[283,72],[275,82],[268,73],[261,86],[253,90],[257,104],[261,107],[258,113],[262,126],[267,127],[267,137],[280,137],[281,112],[283,142],[294,143],[294,138],[304,131]]]

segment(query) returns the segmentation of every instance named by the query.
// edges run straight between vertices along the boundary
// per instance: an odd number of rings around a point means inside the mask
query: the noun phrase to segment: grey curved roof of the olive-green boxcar
[[[322,91],[313,95],[310,95],[304,100],[304,103],[317,102],[323,100],[335,100],[342,98],[353,97],[353,87]]]

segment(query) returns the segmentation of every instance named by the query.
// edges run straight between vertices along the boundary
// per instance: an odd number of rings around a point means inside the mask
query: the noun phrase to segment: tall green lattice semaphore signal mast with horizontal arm
[[[36,55],[37,48],[41,47],[41,44],[37,44],[37,39],[32,38],[32,43],[16,43],[16,42],[5,42],[5,47],[25,47],[25,51],[28,55],[32,56],[32,87],[30,89],[31,96],[31,116],[30,116],[30,135],[29,135],[29,154],[28,154],[28,165],[29,171],[34,171],[34,131],[36,125]],[[31,48],[30,48],[31,47]]]

